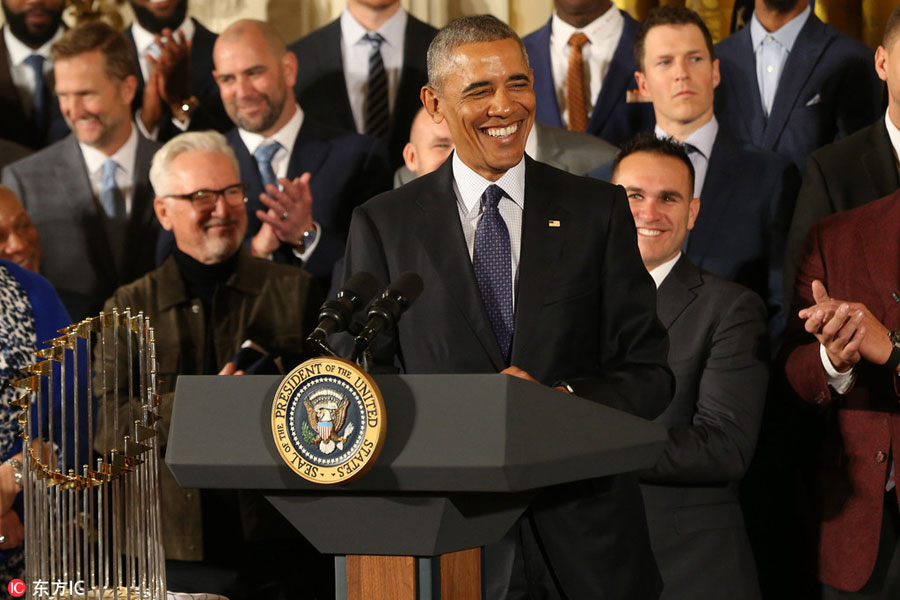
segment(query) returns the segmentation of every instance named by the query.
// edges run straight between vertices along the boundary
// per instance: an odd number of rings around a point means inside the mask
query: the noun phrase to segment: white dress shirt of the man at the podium
[[[516,284],[519,281],[519,256],[522,248],[522,211],[525,210],[525,158],[509,169],[497,181],[489,181],[470,169],[453,152],[453,193],[456,194],[456,206],[459,209],[459,220],[462,224],[469,259],[475,258],[475,232],[484,212],[481,201],[484,191],[491,185],[497,185],[506,195],[497,205],[506,229],[509,231],[509,250],[512,259],[513,306],[516,300]]]

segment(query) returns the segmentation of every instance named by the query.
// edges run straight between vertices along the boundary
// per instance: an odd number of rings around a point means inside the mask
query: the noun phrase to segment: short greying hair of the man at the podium
[[[450,54],[459,46],[478,42],[516,40],[528,64],[525,44],[512,27],[494,15],[469,15],[453,19],[441,29],[428,46],[428,85],[441,90],[444,76],[452,68]]]

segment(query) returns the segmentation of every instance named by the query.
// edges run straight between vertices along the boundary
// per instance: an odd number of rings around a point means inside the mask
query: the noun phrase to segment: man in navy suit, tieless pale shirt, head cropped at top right
[[[719,42],[716,56],[722,125],[798,169],[881,112],[872,50],[822,23],[809,0],[756,0],[750,23]]]

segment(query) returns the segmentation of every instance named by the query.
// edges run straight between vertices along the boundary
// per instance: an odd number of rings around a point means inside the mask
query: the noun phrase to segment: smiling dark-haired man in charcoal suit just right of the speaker
[[[661,598],[760,598],[738,504],[762,418],[768,371],[766,307],[749,289],[682,255],[700,199],[685,151],[668,138],[627,142],[612,182],[625,188],[644,266],[669,332],[675,397],[656,418],[669,443],[642,474]]]

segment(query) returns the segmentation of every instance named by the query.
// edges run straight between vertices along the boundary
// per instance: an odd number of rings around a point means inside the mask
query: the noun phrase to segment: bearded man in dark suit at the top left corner
[[[50,46],[62,37],[63,0],[3,0],[0,138],[39,150],[69,128],[53,95]]]

